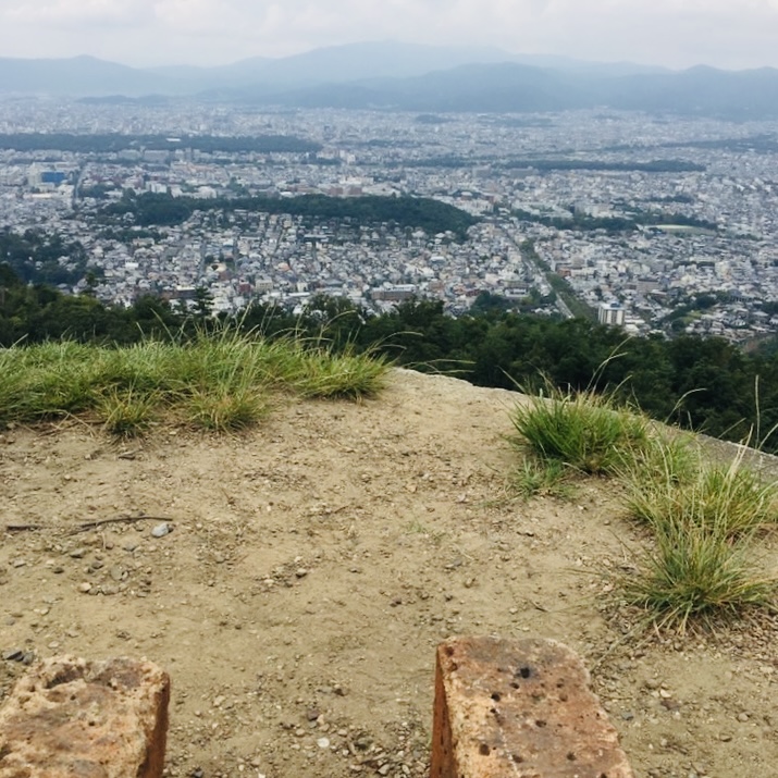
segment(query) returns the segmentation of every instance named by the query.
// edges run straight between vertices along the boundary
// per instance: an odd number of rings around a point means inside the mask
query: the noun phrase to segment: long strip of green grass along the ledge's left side
[[[14,346],[0,349],[0,425],[81,416],[123,437],[143,434],[155,420],[244,430],[264,418],[271,391],[360,398],[383,387],[387,369],[372,354],[229,326],[127,348]]]

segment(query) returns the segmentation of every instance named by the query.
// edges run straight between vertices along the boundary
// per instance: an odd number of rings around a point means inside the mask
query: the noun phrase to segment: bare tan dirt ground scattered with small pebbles
[[[638,776],[778,776],[778,622],[630,635],[608,595],[645,539],[607,481],[506,491],[519,400],[397,370],[239,437],[5,431],[0,695],[21,655],[147,657],[172,677],[170,776],[405,778],[428,770],[441,640],[548,637]]]

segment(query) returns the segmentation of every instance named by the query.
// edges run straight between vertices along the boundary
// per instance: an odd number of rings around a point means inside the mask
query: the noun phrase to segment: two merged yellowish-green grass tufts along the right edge
[[[623,581],[628,602],[681,632],[773,607],[778,581],[760,571],[755,540],[778,521],[778,484],[744,467],[743,449],[729,465],[699,457],[689,468],[683,448],[656,447],[660,467],[634,468],[625,479],[629,515],[655,543],[637,577]]]

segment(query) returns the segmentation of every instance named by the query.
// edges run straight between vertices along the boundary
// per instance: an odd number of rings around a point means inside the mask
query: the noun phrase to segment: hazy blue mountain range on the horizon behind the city
[[[0,58],[0,96],[95,101],[180,98],[300,108],[538,112],[613,108],[778,118],[778,71],[668,71],[498,49],[353,44],[219,67],[136,69],[91,57]]]

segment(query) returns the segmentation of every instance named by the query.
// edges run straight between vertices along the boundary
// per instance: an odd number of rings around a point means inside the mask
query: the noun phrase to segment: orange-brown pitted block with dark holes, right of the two
[[[552,640],[437,649],[432,778],[634,778],[580,658]]]

